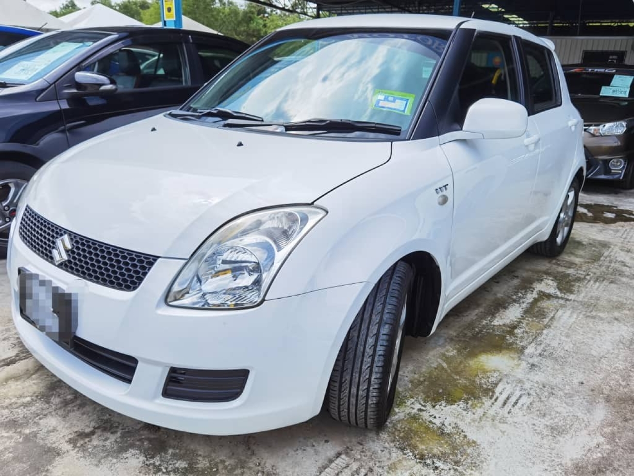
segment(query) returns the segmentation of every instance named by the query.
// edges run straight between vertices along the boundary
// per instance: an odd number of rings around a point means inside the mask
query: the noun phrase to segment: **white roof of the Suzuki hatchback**
[[[304,28],[385,28],[385,29],[439,29],[453,30],[456,27],[473,28],[476,30],[515,35],[542,44],[553,49],[552,43],[543,41],[540,37],[507,25],[507,23],[478,20],[476,18],[449,17],[447,15],[417,15],[411,13],[377,13],[372,15],[344,15],[342,17],[318,18],[306,22],[292,23],[280,30],[294,30]]]

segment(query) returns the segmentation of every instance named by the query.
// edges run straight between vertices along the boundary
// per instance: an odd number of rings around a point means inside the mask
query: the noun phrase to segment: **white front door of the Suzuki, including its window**
[[[482,98],[520,102],[517,62],[510,37],[475,37],[458,83],[462,121],[470,105]],[[539,140],[529,121],[526,135],[519,138],[459,140],[442,146],[453,171],[449,300],[529,237]]]

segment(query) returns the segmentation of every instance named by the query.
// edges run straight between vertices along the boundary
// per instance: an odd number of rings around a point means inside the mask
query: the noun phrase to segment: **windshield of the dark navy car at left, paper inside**
[[[0,51],[0,83],[28,84],[107,37],[100,32],[55,32]]]

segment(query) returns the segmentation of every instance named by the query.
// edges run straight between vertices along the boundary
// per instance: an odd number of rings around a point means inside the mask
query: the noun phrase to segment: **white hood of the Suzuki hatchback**
[[[389,142],[256,133],[157,116],[59,155],[34,176],[23,203],[77,234],[188,258],[231,218],[314,202],[390,154]]]

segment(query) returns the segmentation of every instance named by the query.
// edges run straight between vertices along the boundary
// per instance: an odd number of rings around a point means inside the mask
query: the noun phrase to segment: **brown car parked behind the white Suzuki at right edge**
[[[634,66],[569,65],[564,72],[583,117],[587,177],[634,188]]]

